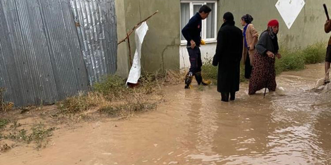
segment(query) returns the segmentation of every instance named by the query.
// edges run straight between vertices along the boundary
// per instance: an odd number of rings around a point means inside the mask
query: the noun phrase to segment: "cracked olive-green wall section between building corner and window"
[[[179,69],[180,20],[179,0],[124,0],[126,31],[153,14],[147,21],[149,30],[142,45],[141,65],[146,71]],[[134,33],[130,37],[132,58]]]

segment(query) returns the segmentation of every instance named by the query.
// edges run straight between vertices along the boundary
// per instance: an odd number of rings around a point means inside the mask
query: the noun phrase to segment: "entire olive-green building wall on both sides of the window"
[[[288,29],[278,13],[275,4],[277,0],[219,0],[218,1],[218,29],[223,23],[222,16],[229,11],[234,14],[236,26],[240,25],[240,18],[244,14],[254,17],[253,24],[261,33],[266,29],[270,19],[278,19],[280,30],[279,43],[289,48],[303,48],[316,42],[327,43],[330,34],[325,34],[325,14],[323,3],[330,9],[331,1],[306,0],[306,4]],[[142,67],[150,72],[159,69],[179,69],[180,45],[180,0],[116,0],[118,17],[118,39],[125,37],[137,22],[153,14],[159,13],[147,21],[149,31],[142,46]],[[132,58],[135,51],[134,33],[130,37]],[[125,55],[126,54],[126,55]],[[126,75],[130,68],[128,63],[128,48],[126,43],[118,47],[118,74]]]

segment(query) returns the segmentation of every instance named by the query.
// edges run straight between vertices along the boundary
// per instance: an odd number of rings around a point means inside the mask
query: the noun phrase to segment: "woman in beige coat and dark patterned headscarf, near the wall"
[[[241,25],[245,26],[243,29],[244,35],[244,50],[243,50],[243,62],[245,63],[245,78],[251,78],[251,72],[253,68],[253,58],[255,52],[255,45],[258,42],[259,33],[252,24],[253,17],[246,14],[241,17]]]

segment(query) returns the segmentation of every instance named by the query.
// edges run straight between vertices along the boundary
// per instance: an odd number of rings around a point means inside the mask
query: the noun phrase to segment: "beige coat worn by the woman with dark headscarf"
[[[244,30],[243,30],[244,32]],[[253,47],[254,49],[253,50],[247,50],[247,48],[245,47],[245,42],[244,42],[244,50],[243,50],[243,62],[245,64],[245,61],[246,61],[246,55],[247,55],[247,51],[249,53],[249,58],[250,58],[250,62],[251,62],[251,65],[253,66],[253,58],[254,58],[254,52],[255,52],[255,45],[256,45],[256,42],[258,40],[256,40],[255,43],[253,43],[253,38],[254,37],[259,37],[259,32],[255,29],[254,25],[253,24],[249,24],[247,26],[247,29],[246,29],[246,40],[247,40],[247,46],[248,47]],[[244,38],[245,40],[245,38]]]

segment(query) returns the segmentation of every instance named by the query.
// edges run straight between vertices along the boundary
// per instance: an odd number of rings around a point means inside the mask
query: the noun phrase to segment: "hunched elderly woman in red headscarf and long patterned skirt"
[[[275,57],[281,58],[278,52],[279,23],[276,19],[268,22],[268,28],[261,33],[254,53],[252,77],[249,82],[248,94],[255,94],[256,91],[265,87],[269,91],[276,90]]]

